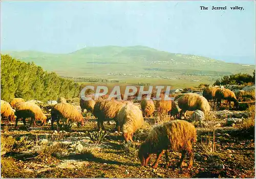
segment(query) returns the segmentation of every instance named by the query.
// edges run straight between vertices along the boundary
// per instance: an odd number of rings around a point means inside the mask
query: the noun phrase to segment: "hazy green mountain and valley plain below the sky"
[[[213,81],[232,73],[252,74],[254,65],[226,63],[202,56],[173,54],[146,46],[85,47],[69,54],[2,52],[34,62],[62,76],[128,80],[129,78]]]

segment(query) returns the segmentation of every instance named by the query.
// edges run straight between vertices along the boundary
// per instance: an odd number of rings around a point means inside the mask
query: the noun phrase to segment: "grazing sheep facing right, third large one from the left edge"
[[[59,120],[61,118],[67,119],[66,121],[67,123],[69,122],[69,120],[71,120],[72,122],[77,122],[78,124],[81,124],[81,125],[84,124],[82,114],[76,109],[76,107],[67,103],[60,103],[55,105],[51,111],[51,116],[52,116],[52,121],[51,121],[52,129],[53,129],[54,121],[56,120],[57,125],[59,125]]]

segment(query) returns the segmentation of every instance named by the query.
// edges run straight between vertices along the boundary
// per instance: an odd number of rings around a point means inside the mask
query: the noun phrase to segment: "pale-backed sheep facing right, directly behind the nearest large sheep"
[[[201,110],[205,114],[210,111],[210,105],[207,99],[196,93],[182,94],[177,100],[178,100],[179,108],[181,109],[178,117],[179,119],[181,119],[181,116],[183,113],[184,113],[184,117],[186,118],[186,114],[185,114],[186,111]]]

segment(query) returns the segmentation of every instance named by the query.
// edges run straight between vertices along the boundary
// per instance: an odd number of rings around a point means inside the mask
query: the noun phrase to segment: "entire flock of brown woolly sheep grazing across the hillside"
[[[144,97],[140,104],[141,110],[132,101],[107,100],[105,96],[99,97],[96,101],[94,99],[86,101],[80,99],[80,107],[82,111],[87,109],[87,111],[92,112],[97,119],[99,130],[105,130],[104,121],[114,120],[116,122],[116,130],[123,133],[125,142],[133,142],[134,132],[144,125],[143,117],[151,117],[155,113],[158,115],[165,113],[174,116],[177,120],[153,127],[140,146],[138,157],[142,166],[147,165],[151,154],[157,154],[153,168],[157,167],[158,161],[163,154],[166,157],[166,166],[169,165],[168,149],[182,153],[178,166],[182,164],[186,154],[189,156],[188,168],[193,165],[193,143],[197,140],[197,133],[193,124],[185,120],[179,120],[183,113],[195,110],[208,113],[210,111],[209,100],[214,100],[214,103],[217,101],[217,105],[221,106],[221,99],[226,99],[229,105],[230,101],[233,101],[234,107],[238,107],[238,100],[232,91],[217,87],[205,88],[203,96],[196,93],[184,93],[176,96],[175,100],[163,100],[163,94],[160,97],[162,99],[156,101],[152,99],[147,100]],[[177,101],[180,112],[175,101]],[[54,121],[59,124],[59,120],[62,118],[66,119],[66,122],[72,121],[77,122],[78,125],[84,124],[84,118],[75,106],[68,104],[64,98],[59,98],[58,102],[60,103],[53,105],[51,108],[52,129]],[[22,119],[24,125],[26,125],[26,118],[31,118],[33,125],[36,125],[36,121],[41,121],[41,125],[47,122],[47,116],[39,106],[22,98],[14,98],[10,104],[1,100],[1,116],[11,121],[16,118],[15,126],[17,126],[19,119]]]

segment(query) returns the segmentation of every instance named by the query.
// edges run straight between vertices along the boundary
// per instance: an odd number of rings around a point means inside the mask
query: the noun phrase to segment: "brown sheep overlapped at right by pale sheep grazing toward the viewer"
[[[98,130],[105,130],[103,121],[110,121],[112,119],[116,121],[117,128],[117,114],[124,105],[124,101],[104,100],[102,98],[99,98],[95,103],[93,109],[93,115],[97,118]]]

